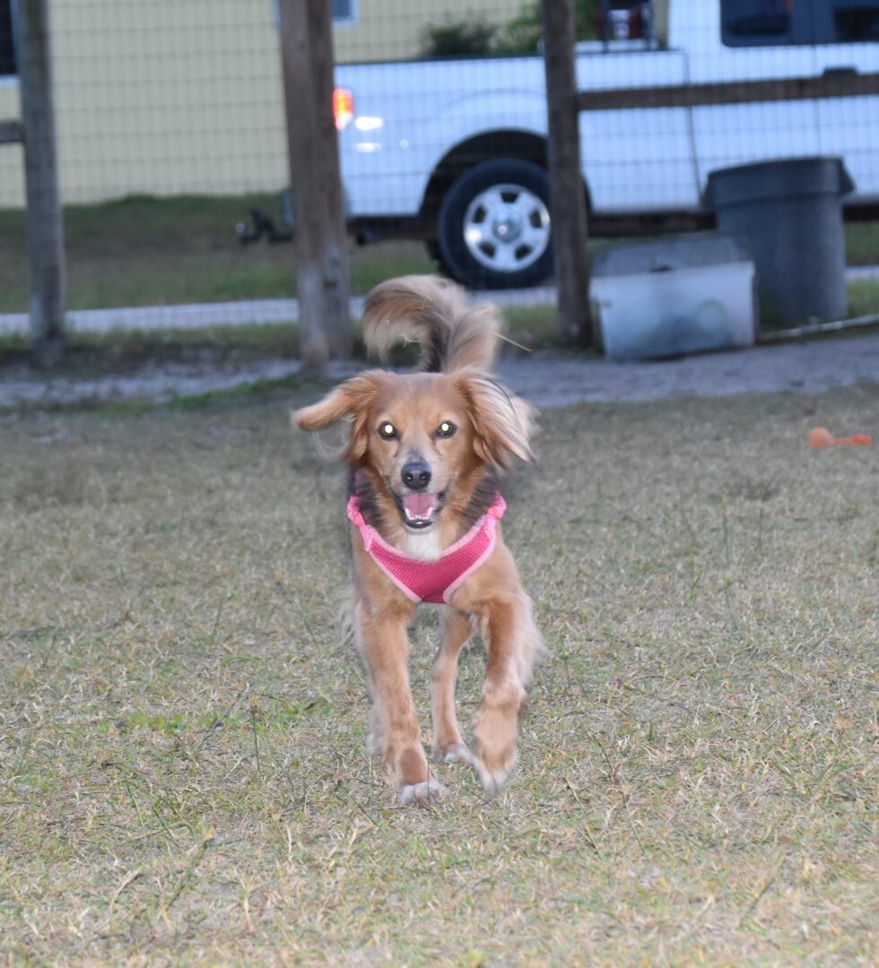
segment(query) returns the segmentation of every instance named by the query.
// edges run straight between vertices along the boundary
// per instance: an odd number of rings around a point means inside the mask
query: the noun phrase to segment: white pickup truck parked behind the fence
[[[633,6],[649,23],[649,6]],[[642,39],[578,47],[593,234],[634,220],[706,225],[709,173],[768,159],[838,156],[855,184],[847,204],[879,201],[879,0],[670,0],[662,11]],[[540,56],[340,65],[335,84],[361,239],[420,236],[472,287],[549,274]]]

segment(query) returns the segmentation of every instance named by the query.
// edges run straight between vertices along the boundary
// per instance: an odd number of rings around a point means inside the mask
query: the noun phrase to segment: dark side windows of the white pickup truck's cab
[[[728,46],[879,42],[879,0],[721,0]]]

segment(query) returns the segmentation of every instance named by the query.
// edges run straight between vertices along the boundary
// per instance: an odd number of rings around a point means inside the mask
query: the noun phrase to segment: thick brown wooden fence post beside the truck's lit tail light
[[[330,0],[280,0],[302,365],[351,355]]]

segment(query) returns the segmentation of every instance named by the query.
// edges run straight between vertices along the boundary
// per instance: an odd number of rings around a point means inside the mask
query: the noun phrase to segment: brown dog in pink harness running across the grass
[[[511,455],[531,459],[531,410],[487,376],[498,330],[492,307],[469,308],[450,283],[383,283],[364,306],[367,348],[416,340],[430,372],[368,371],[294,414],[308,430],[350,421],[354,625],[373,701],[369,748],[404,804],[446,792],[427,766],[409,687],[406,627],[416,604],[444,606],[431,676],[434,755],[472,764],[489,792],[516,764],[518,714],[542,649],[499,527],[499,477]],[[487,667],[471,752],[458,730],[455,680],[474,630]]]

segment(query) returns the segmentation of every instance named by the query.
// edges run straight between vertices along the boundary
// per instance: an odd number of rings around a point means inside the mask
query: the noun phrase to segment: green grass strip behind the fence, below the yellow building
[[[64,213],[70,309],[170,305],[296,294],[293,247],[264,239],[242,246],[235,224],[257,206],[279,224],[276,196],[130,197],[72,205]],[[596,240],[595,246],[607,244]],[[846,226],[850,264],[879,263],[879,224]],[[433,272],[419,242],[350,247],[351,287]],[[869,312],[879,311],[870,292]],[[862,301],[863,302],[863,301]],[[24,215],[0,209],[0,313],[27,309]]]

